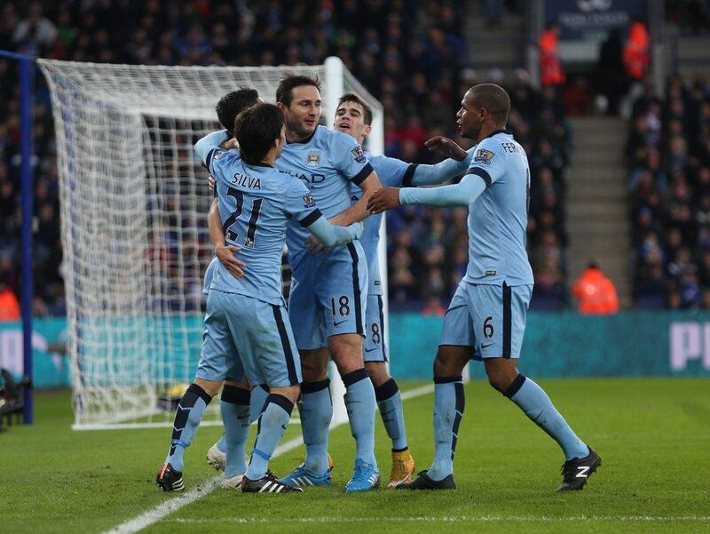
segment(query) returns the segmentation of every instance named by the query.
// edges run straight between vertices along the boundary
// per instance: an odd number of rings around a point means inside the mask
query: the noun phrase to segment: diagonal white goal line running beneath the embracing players
[[[414,389],[410,389],[402,393],[402,400],[405,401],[406,399],[412,399],[417,396],[426,395],[428,393],[431,393],[432,391],[434,391],[434,387],[432,385],[416,387]],[[341,424],[343,423],[340,423],[335,426],[340,426]],[[331,426],[331,430],[335,428],[335,426]],[[273,451],[272,458],[276,458],[277,456],[280,456],[281,454],[284,454],[289,450],[294,450],[296,449],[296,447],[299,447],[303,443],[303,437],[297,437],[288,442],[285,442]],[[185,491],[183,495],[170,498],[170,500],[166,500],[162,504],[155,506],[144,514],[140,514],[127,522],[122,522],[117,527],[114,527],[114,529],[106,530],[106,534],[134,534],[134,532],[146,529],[155,522],[161,521],[163,517],[172,514],[173,512],[177,512],[177,510],[179,510],[180,508],[190,505],[196,500],[199,500],[203,497],[207,497],[212,491],[217,490],[220,485],[220,479],[221,477],[219,476],[209,478],[206,481],[202,482],[201,485],[197,488]]]

